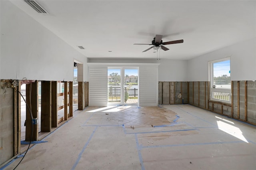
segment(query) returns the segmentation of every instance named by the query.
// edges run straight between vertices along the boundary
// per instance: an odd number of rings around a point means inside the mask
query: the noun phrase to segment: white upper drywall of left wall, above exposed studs
[[[84,55],[11,2],[0,3],[0,79],[73,81],[74,59],[86,67]]]

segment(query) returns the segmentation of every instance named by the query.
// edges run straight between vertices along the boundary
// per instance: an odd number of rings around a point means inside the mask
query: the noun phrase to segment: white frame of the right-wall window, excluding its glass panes
[[[232,91],[231,91],[231,88],[230,89],[226,89],[226,88],[213,88],[213,82],[214,82],[214,75],[213,75],[213,64],[214,63],[218,63],[218,62],[222,62],[222,61],[226,61],[226,60],[230,60],[230,77],[231,77],[231,58],[230,57],[226,57],[226,58],[223,58],[223,59],[218,59],[218,60],[214,60],[214,61],[209,61],[208,62],[208,66],[209,66],[209,81],[210,81],[210,101],[218,101],[218,102],[221,102],[221,103],[229,103],[231,104],[232,100],[231,100],[231,97],[232,97]],[[231,79],[230,79],[230,83],[231,83]],[[229,93],[230,96],[229,96],[229,101],[227,100],[224,100],[224,99],[215,99],[213,98],[213,92],[219,92],[219,93]]]

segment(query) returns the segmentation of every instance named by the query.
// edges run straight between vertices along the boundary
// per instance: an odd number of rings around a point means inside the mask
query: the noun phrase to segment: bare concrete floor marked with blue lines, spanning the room
[[[43,141],[16,170],[256,169],[255,126],[191,105],[88,107]]]

